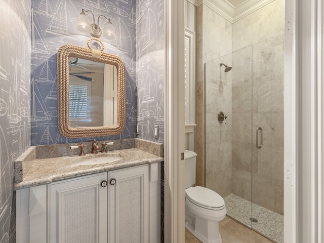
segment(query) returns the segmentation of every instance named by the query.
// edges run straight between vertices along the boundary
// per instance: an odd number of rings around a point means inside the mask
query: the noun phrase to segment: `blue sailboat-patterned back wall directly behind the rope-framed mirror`
[[[56,53],[65,44],[87,47],[91,36],[75,29],[82,9],[91,10],[96,18],[111,18],[116,31],[115,41],[101,40],[104,52],[120,56],[126,64],[127,114],[137,106],[136,92],[136,1],[32,0],[31,1],[31,142],[32,145],[90,141],[94,138],[67,139],[57,128]],[[103,26],[104,18],[100,18]],[[136,120],[127,117],[126,129],[116,136],[97,140],[135,137]]]

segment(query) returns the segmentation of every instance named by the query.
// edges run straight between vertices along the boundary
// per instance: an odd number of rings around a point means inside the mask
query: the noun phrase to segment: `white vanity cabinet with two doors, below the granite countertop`
[[[160,164],[17,190],[17,243],[160,242]]]

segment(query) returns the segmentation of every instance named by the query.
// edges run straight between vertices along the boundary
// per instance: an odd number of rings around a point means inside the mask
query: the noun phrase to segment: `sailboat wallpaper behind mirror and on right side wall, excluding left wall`
[[[82,9],[111,18],[117,38],[101,40],[104,52],[126,64],[126,128],[111,140],[139,137],[163,143],[164,123],[164,2],[151,0],[31,1],[31,143],[46,145],[91,141],[67,139],[57,128],[56,53],[65,44],[87,48],[89,34],[75,29]],[[103,20],[101,20],[103,21]],[[103,22],[99,22],[101,25]],[[157,108],[157,106],[159,108]],[[136,124],[139,134],[136,133]],[[159,139],[153,127],[159,126]]]

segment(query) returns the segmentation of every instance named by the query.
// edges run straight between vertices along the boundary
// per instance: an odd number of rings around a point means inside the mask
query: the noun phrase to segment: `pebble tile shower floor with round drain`
[[[234,194],[225,196],[224,200],[229,217],[248,227],[251,227],[250,218],[253,217],[258,221],[252,223],[254,230],[274,242],[284,242],[284,216],[253,203],[251,215],[251,202]]]

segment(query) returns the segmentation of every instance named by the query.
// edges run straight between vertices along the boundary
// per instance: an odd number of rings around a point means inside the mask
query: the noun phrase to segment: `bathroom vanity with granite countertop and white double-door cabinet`
[[[15,168],[17,243],[160,242],[163,148],[133,140],[134,148],[85,156],[37,158],[39,146],[28,149]]]

